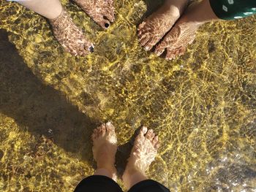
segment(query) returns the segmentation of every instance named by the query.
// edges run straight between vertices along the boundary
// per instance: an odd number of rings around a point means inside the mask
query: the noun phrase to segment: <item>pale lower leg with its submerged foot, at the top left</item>
[[[48,18],[53,34],[64,49],[72,55],[88,55],[94,45],[86,39],[83,31],[73,23],[59,0],[26,0],[18,3]]]

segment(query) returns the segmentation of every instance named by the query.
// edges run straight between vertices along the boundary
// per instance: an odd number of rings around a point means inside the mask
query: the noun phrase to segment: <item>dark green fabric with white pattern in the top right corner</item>
[[[256,0],[209,0],[218,18],[235,20],[256,14]]]

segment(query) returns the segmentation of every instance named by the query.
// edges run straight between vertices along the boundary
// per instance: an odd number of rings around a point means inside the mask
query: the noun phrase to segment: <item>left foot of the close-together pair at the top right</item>
[[[187,0],[166,0],[165,4],[154,12],[138,27],[140,44],[151,50],[184,12]]]

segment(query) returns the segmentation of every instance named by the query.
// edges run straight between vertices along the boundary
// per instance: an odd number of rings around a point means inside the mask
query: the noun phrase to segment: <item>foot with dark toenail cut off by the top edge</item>
[[[115,20],[113,0],[73,0],[86,12],[99,26],[108,28],[110,22]]]

